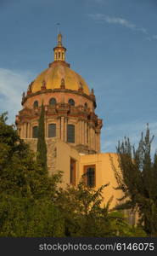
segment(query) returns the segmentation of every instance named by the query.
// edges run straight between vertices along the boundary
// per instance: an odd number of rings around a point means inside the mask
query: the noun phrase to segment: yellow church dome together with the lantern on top
[[[58,35],[58,44],[53,48],[54,61],[31,83],[31,92],[44,89],[59,89],[61,84],[64,89],[81,90],[83,93],[90,95],[87,83],[81,76],[70,69],[70,64],[65,62],[66,48],[62,45],[62,35]]]

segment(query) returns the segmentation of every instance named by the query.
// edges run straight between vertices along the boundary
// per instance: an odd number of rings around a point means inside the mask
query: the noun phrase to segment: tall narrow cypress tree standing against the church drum
[[[42,166],[43,172],[48,172],[47,168],[47,144],[45,142],[45,125],[44,125],[45,110],[42,102],[42,110],[38,125],[37,139],[37,161]]]

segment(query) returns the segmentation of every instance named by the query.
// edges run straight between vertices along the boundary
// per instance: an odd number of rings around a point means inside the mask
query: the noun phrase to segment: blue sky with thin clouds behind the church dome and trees
[[[0,112],[14,122],[22,92],[53,61],[58,22],[66,61],[97,97],[102,151],[125,136],[136,144],[147,123],[157,137],[156,0],[1,0]]]

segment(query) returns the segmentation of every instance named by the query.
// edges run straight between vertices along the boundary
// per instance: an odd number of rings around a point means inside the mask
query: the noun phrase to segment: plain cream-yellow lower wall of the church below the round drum
[[[36,152],[37,139],[25,139],[25,142],[29,143],[31,149]],[[73,159],[76,160],[76,184],[81,180],[85,166],[95,166],[95,189],[109,183],[109,186],[104,188],[104,203],[106,204],[113,196],[110,208],[118,204],[117,198],[122,197],[122,192],[114,189],[117,187],[117,183],[110,160],[111,157],[118,169],[117,154],[79,154],[76,148],[64,143],[59,138],[47,138],[46,143],[48,148],[48,175],[51,176],[57,171],[63,172],[61,187],[70,183],[70,159]]]

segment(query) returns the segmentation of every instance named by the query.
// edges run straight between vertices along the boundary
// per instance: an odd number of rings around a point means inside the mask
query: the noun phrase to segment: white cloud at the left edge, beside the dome
[[[8,111],[8,122],[14,123],[21,109],[22,92],[31,82],[31,73],[21,73],[0,68],[0,113]]]

